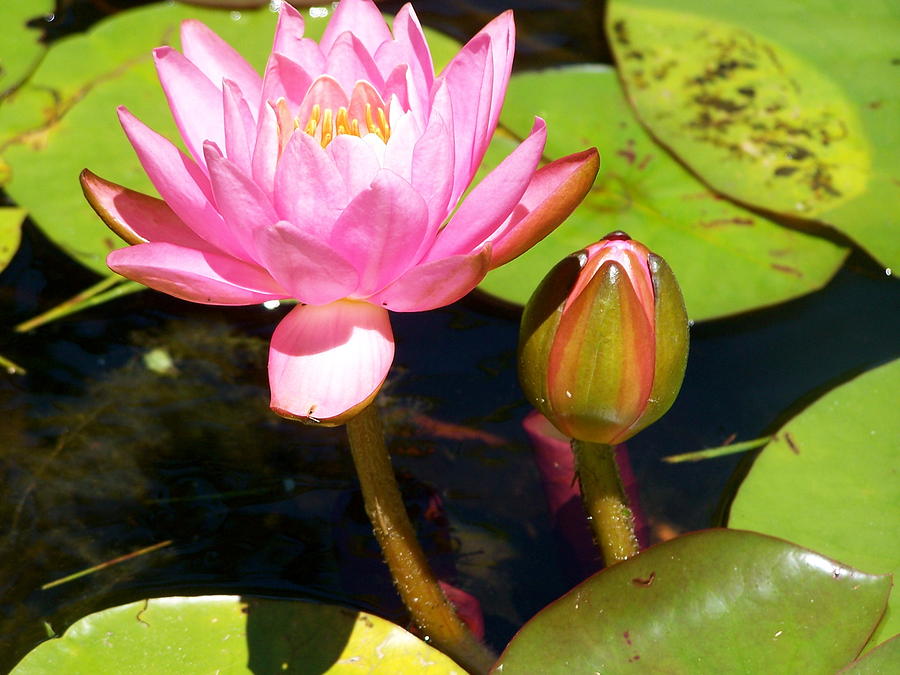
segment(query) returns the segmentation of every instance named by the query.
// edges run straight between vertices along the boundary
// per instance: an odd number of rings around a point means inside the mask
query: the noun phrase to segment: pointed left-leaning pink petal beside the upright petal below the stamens
[[[232,238],[240,242],[245,259],[256,260],[254,235],[278,221],[268,196],[211,143],[204,146],[216,207]]]

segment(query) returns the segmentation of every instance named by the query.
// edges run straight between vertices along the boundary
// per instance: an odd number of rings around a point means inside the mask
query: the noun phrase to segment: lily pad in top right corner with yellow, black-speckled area
[[[641,119],[709,185],[900,266],[897,3],[614,0],[607,32]]]

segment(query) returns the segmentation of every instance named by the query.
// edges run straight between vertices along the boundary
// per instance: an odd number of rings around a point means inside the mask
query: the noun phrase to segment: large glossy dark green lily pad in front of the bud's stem
[[[860,651],[891,580],[755,532],[707,530],[576,586],[493,673],[833,673]]]

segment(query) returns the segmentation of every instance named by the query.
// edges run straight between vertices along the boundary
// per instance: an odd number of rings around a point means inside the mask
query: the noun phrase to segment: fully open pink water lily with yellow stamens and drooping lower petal
[[[394,355],[388,311],[454,302],[542,239],[593,183],[596,150],[539,167],[530,135],[463,197],[497,125],[514,52],[511,12],[438,76],[409,5],[393,31],[342,0],[322,39],[283,3],[262,77],[197,21],[183,53],[154,51],[189,154],[126,108],[119,119],[162,199],[89,171],[91,205],[130,247],[119,274],[185,300],[294,298],[269,355],[272,408],[340,423],[377,393]]]

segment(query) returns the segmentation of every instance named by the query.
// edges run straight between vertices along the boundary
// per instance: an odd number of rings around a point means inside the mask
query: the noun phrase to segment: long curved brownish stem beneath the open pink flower
[[[486,673],[496,659],[457,616],[425,559],[400,495],[374,403],[347,422],[347,436],[366,513],[413,622],[428,642],[466,670]]]

